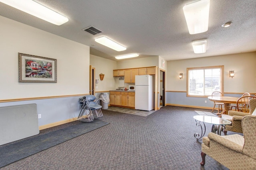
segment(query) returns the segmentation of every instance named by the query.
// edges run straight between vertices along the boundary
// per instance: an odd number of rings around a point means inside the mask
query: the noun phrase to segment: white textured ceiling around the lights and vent
[[[256,0],[210,0],[208,31],[190,35],[183,6],[196,0],[34,0],[66,16],[57,26],[0,2],[0,15],[90,46],[90,53],[114,57],[138,53],[167,61],[256,51]],[[230,27],[221,25],[231,21]],[[82,29],[94,26],[103,33]],[[18,28],[17,28],[18,29]],[[106,36],[125,46],[114,51],[94,41]],[[192,41],[207,39],[204,54],[195,54]]]

